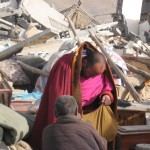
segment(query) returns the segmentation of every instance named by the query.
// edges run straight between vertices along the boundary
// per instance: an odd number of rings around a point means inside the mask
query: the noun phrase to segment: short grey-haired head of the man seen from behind
[[[73,96],[63,95],[55,102],[56,117],[65,115],[75,115],[77,102]]]

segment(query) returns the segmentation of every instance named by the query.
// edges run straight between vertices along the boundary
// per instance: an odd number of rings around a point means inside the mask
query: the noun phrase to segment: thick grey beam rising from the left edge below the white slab
[[[4,51],[0,52],[0,61],[10,58],[13,54],[18,53],[21,48],[31,44],[32,42],[36,42],[37,40],[44,39],[45,36],[49,35],[49,38],[50,38],[51,34],[54,35],[50,29],[46,29],[41,33],[35,34],[32,37],[25,39],[25,40],[21,41],[20,43],[5,49]],[[39,42],[39,41],[37,41],[37,42]]]

